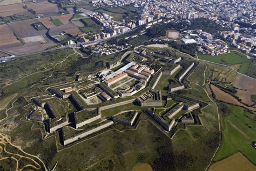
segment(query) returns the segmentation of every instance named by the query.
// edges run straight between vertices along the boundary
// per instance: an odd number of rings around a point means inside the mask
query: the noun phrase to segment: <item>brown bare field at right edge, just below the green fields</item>
[[[256,80],[250,77],[239,74],[233,83],[234,87],[239,88],[237,90],[236,96],[242,99],[242,102],[252,105],[251,95],[256,94]]]

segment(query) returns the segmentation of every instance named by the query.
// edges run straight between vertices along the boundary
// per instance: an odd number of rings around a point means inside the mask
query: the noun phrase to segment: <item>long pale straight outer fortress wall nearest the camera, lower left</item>
[[[112,124],[113,124],[113,122],[110,121],[110,122],[107,122],[107,123],[104,124],[104,125],[100,125],[100,126],[96,127],[95,129],[92,129],[92,130],[89,130],[89,131],[80,133],[80,134],[78,134],[78,135],[75,136],[75,137],[71,137],[71,138],[69,138],[69,139],[66,139],[66,140],[64,140],[64,146],[65,146],[65,145],[68,145],[68,144],[70,144],[70,143],[73,143],[73,142],[75,142],[75,141],[77,141],[77,140],[79,140],[79,139],[82,139],[82,138],[84,138],[84,137],[86,137],[86,136],[89,136],[89,135],[92,134],[92,133],[95,133],[95,132],[97,132],[97,131],[103,130],[103,129],[105,129],[106,127],[108,127],[108,126],[110,126],[110,125],[112,125]]]

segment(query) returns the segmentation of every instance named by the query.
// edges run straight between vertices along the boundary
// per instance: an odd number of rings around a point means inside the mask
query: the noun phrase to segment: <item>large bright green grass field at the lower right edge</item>
[[[255,115],[246,112],[239,106],[225,104],[228,112],[223,118],[223,140],[214,160],[218,161],[240,151],[254,165],[256,163],[256,151],[252,147],[252,141],[256,140]]]

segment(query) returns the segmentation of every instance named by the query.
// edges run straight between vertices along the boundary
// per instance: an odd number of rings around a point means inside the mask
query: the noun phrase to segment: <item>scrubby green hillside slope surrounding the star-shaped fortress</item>
[[[20,145],[26,152],[40,156],[47,167],[52,168],[58,161],[57,167],[60,170],[69,168],[77,170],[85,168],[87,170],[131,170],[134,165],[142,162],[149,163],[154,170],[205,169],[217,148],[219,134],[216,109],[201,87],[204,82],[204,75],[202,74],[205,70],[204,65],[199,65],[191,74],[190,81],[197,82],[193,83],[193,89],[190,89],[187,95],[210,104],[203,110],[203,115],[200,115],[202,122],[207,124],[190,126],[186,130],[180,130],[172,140],[158,129],[157,124],[150,122],[149,117],[142,113],[140,116],[142,122],[138,124],[136,130],[117,125],[114,127],[116,130],[107,131],[57,152],[54,136],[42,138],[39,128],[42,129],[43,124],[24,122],[30,111],[22,108],[28,104],[23,97],[40,95],[40,90],[46,89],[49,84],[71,82],[76,71],[90,74],[98,69],[103,69],[105,67],[103,60],[118,59],[123,53],[109,56],[92,55],[90,58],[83,59],[73,54],[72,49],[67,49],[67,51],[32,55],[30,58],[3,64],[2,69],[6,69],[5,75],[2,76],[3,79],[8,79],[8,77],[15,79],[14,72],[8,68],[16,69],[15,67],[21,63],[26,68],[19,71],[23,76],[27,72],[29,74],[36,72],[35,68],[29,68],[25,65],[26,61],[29,61],[31,66],[33,62],[39,60],[38,65],[43,63],[46,68],[55,67],[46,72],[43,79],[36,77],[39,81],[37,80],[33,85],[24,83],[24,87],[21,89],[19,86],[6,87],[12,89],[10,94],[15,92],[24,92],[25,94],[18,97],[14,103],[15,107],[8,111],[12,115],[9,115],[2,122],[4,126],[0,128],[0,131],[12,137],[12,141],[15,141],[15,144]],[[68,55],[70,56],[67,58]],[[36,64],[36,66],[38,65]],[[29,81],[34,79],[34,76],[28,76]],[[73,160],[70,160],[70,156]]]

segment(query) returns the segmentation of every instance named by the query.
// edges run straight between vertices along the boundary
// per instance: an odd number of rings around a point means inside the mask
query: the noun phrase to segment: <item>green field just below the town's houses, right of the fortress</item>
[[[237,51],[231,51],[230,53],[219,55],[219,56],[198,54],[198,58],[206,61],[215,62],[215,63],[221,63],[228,66],[237,65],[240,63],[241,65],[239,69],[237,68],[237,66],[235,66],[235,69],[238,69],[238,72],[242,74],[247,73],[247,70],[251,63],[251,61],[247,59],[246,55]]]

